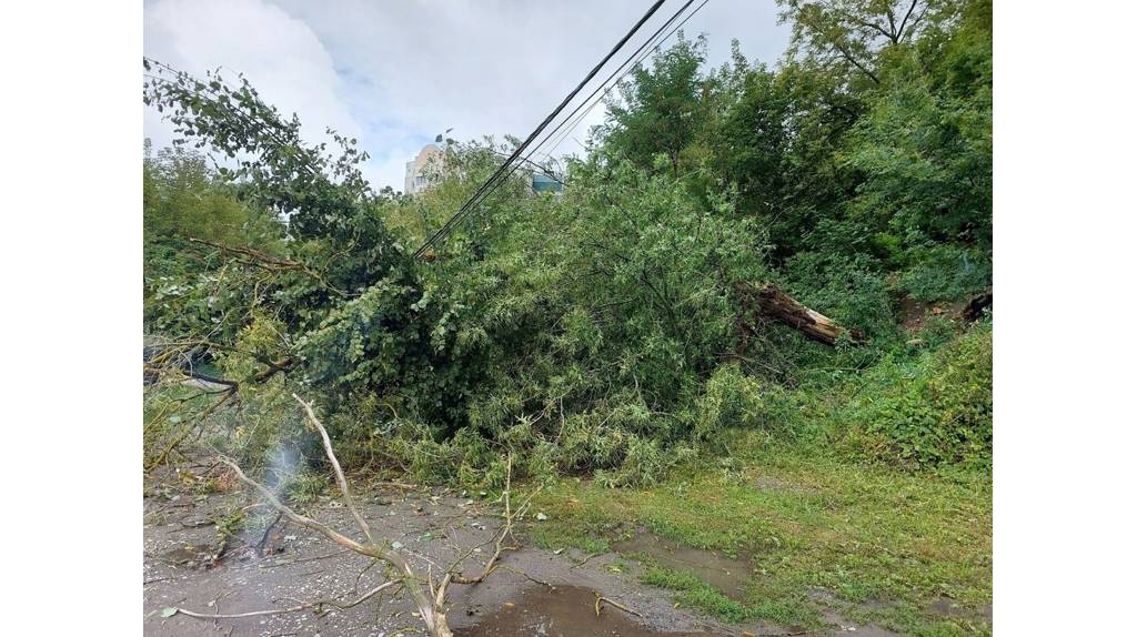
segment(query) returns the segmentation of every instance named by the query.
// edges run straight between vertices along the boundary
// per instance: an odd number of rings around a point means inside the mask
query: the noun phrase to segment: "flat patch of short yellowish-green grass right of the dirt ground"
[[[599,552],[622,525],[695,548],[753,555],[746,604],[648,563],[645,581],[728,620],[814,625],[823,606],[919,635],[984,635],[991,602],[989,475],[908,473],[792,453],[691,467],[644,489],[563,480],[534,501],[546,547]],[[819,601],[819,592],[824,601]],[[965,614],[930,606],[949,597]]]

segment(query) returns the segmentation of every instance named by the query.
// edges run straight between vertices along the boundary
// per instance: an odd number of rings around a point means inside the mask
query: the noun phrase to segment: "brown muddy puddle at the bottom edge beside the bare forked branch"
[[[513,602],[474,626],[454,631],[457,637],[699,637],[712,632],[657,632],[633,615],[600,602],[597,593],[580,586],[532,586]]]

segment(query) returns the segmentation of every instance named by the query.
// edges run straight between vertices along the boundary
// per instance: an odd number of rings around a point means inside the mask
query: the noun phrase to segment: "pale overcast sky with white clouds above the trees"
[[[364,173],[376,190],[402,190],[406,161],[447,128],[463,141],[528,135],[648,6],[648,0],[152,0],[143,9],[143,49],[198,76],[218,67],[243,73],[266,101],[300,116],[307,139],[322,140],[327,126],[357,137],[372,157]],[[667,0],[594,82],[607,77],[680,6],[682,0]],[[773,0],[709,0],[683,32],[707,35],[713,65],[728,59],[733,37],[749,60],[773,65],[789,37],[777,15]],[[584,141],[603,110],[603,104],[592,110],[558,151],[580,151],[575,140]],[[144,134],[158,148],[172,139],[169,125],[152,109],[146,109]]]

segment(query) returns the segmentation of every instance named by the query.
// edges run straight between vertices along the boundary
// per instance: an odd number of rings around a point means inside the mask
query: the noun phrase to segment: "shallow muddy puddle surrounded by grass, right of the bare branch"
[[[752,575],[747,559],[682,546],[650,533],[638,533],[632,539],[617,542],[612,547],[629,555],[647,554],[662,567],[695,575],[736,602],[747,601],[746,586]]]

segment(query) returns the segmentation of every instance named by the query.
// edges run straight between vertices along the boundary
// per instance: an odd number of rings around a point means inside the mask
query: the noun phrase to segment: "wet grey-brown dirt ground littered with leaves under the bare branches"
[[[217,521],[251,501],[240,489],[202,493],[205,467],[182,476],[148,478],[143,495],[142,612],[148,636],[367,636],[424,635],[415,606],[406,595],[385,592],[347,610],[316,617],[312,611],[244,619],[202,620],[184,614],[164,617],[177,606],[201,613],[242,613],[281,609],[302,602],[354,601],[383,581],[382,565],[368,567],[362,555],[342,551],[322,536],[287,521],[271,526],[274,514],[257,513],[258,525],[239,531],[224,545]],[[497,505],[476,494],[442,489],[372,485],[360,488],[363,514],[376,536],[385,537],[423,570],[438,573],[459,555],[467,575],[482,570],[492,552],[501,520]],[[473,497],[471,497],[473,495]],[[356,537],[348,510],[322,496],[302,508],[309,516]],[[528,523],[540,523],[530,521]],[[269,527],[269,531],[264,531]],[[669,592],[638,581],[639,567],[617,553],[586,555],[578,550],[542,551],[525,542],[506,552],[484,582],[454,585],[447,617],[457,635],[624,636],[653,635],[861,635],[890,636],[873,626],[855,626],[839,615],[827,618],[831,629],[804,632],[764,622],[728,626],[680,609]],[[263,550],[256,546],[265,539]],[[616,546],[642,551],[653,540]],[[219,556],[218,556],[219,554]],[[690,563],[731,568],[712,556],[684,554]],[[622,568],[614,568],[614,564]],[[365,570],[366,569],[366,570]],[[711,578],[713,579],[713,578]],[[716,581],[709,581],[715,585]],[[728,590],[727,593],[733,593]],[[601,601],[603,596],[626,610]],[[855,632],[854,632],[855,631]]]

